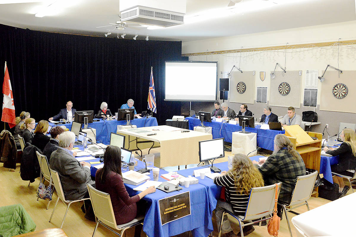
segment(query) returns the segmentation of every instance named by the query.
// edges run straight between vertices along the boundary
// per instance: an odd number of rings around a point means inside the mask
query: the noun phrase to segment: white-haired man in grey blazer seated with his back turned
[[[74,158],[75,154],[73,154],[72,149],[75,134],[71,131],[65,131],[59,134],[58,139],[59,147],[52,152],[49,167],[58,172],[64,197],[66,200],[89,198],[87,184],[95,187],[95,182],[90,178],[90,163],[79,162]],[[85,203],[85,206],[88,206],[85,218],[95,220],[94,212],[89,203]],[[82,210],[84,212],[84,207],[82,207]]]

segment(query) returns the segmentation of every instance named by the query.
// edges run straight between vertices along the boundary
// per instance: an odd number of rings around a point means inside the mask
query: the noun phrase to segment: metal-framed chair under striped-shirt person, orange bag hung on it
[[[279,190],[281,190],[281,183],[278,183],[278,195]],[[219,237],[221,236],[221,226],[223,226],[224,215],[231,215],[236,218],[240,224],[240,233],[244,237],[244,232],[242,232],[242,227],[247,225],[252,225],[257,222],[262,222],[271,219],[271,214],[274,210],[274,203],[276,197],[276,184],[268,185],[265,187],[251,188],[250,197],[248,198],[247,208],[245,216],[237,216],[234,213],[225,210],[223,212],[223,217],[221,218],[221,225],[219,230]],[[270,217],[266,217],[266,216]],[[258,220],[256,220],[258,219]],[[252,221],[254,220],[254,221]],[[242,222],[252,221],[243,224]]]

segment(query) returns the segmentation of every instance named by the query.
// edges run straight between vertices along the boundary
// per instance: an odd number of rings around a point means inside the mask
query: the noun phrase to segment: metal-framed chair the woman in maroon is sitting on
[[[110,195],[108,193],[101,192],[90,184],[87,184],[88,191],[90,195],[91,205],[93,206],[94,214],[96,217],[96,226],[94,228],[93,236],[95,231],[98,228],[99,223],[104,227],[108,228],[110,231],[114,232],[118,236],[122,236],[124,231],[130,227],[142,224],[143,225],[143,216],[136,217],[132,221],[116,225],[114,210],[112,209]],[[120,233],[118,233],[120,232]]]

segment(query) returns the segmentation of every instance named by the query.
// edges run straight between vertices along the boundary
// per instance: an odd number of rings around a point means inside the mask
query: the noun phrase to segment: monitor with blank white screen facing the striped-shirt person
[[[224,138],[199,141],[199,161],[208,161],[221,154],[225,156]]]

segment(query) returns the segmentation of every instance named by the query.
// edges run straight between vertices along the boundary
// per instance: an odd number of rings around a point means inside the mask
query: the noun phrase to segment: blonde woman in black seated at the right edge
[[[343,141],[339,148],[324,147],[325,153],[332,156],[339,156],[339,163],[331,166],[331,171],[344,176],[354,176],[356,169],[356,133],[350,128],[341,131],[340,138]],[[350,187],[344,184],[339,176],[333,177],[334,183],[339,184],[339,198],[345,196]]]

